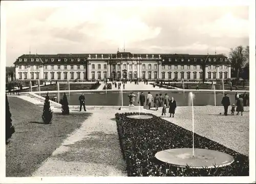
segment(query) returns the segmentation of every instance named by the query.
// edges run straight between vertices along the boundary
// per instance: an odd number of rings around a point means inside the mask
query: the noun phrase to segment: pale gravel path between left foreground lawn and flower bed
[[[93,111],[33,176],[126,176],[114,118]]]

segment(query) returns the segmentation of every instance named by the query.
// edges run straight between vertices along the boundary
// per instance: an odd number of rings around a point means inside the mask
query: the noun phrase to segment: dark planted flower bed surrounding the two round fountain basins
[[[155,154],[164,149],[191,148],[192,132],[155,115],[152,119],[130,119],[138,113],[116,114],[117,130],[128,176],[248,176],[249,158],[217,142],[194,134],[195,148],[225,152],[234,157],[226,167],[213,169],[178,168],[158,161]]]

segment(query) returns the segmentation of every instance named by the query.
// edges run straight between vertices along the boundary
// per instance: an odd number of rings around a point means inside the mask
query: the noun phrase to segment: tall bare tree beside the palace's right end
[[[237,78],[239,78],[241,69],[247,60],[246,49],[247,48],[244,48],[242,45],[240,45],[234,49],[230,48],[229,59],[231,61],[231,66],[233,67]],[[248,47],[248,49],[249,49],[249,47]]]

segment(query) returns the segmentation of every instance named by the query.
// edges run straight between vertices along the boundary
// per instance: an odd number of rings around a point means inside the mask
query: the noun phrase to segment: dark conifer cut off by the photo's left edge
[[[12,114],[10,112],[9,102],[7,94],[5,95],[5,142],[8,143],[8,140],[12,137],[12,134],[15,132],[14,126],[12,126]]]

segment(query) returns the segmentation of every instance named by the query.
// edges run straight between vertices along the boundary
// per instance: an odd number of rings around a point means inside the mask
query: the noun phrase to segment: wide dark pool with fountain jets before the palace
[[[138,106],[138,92],[139,91],[133,91],[136,95],[135,97],[135,106]],[[114,91],[108,91],[106,94],[105,92],[83,92],[84,97],[86,98],[86,106],[121,106],[122,104],[122,95],[120,92],[114,92]],[[145,97],[147,96],[147,92],[143,91]],[[168,96],[171,98],[172,96],[177,102],[177,106],[189,106],[188,103],[188,94],[189,92],[177,92],[177,91],[152,91],[151,94],[153,97],[156,96],[156,94],[162,94],[164,96],[165,93],[168,94]],[[194,106],[214,106],[215,100],[214,100],[214,92],[204,92],[204,91],[195,91],[193,92],[195,94],[194,99]],[[230,104],[235,102],[235,93],[236,91],[230,91],[226,92],[230,99]],[[60,99],[63,98],[63,92],[59,93]],[[123,106],[129,106],[129,97],[128,95],[130,92],[123,92]],[[70,96],[69,93],[66,93],[69,101],[70,106],[78,106],[79,103],[79,96],[81,95],[81,92],[71,92]],[[46,96],[46,95],[41,95]],[[49,93],[50,99],[53,97],[58,97],[57,93]],[[223,92],[216,92],[216,106],[222,106],[221,100],[223,97]],[[56,99],[57,101],[57,99]],[[153,103],[154,107],[154,103]]]

